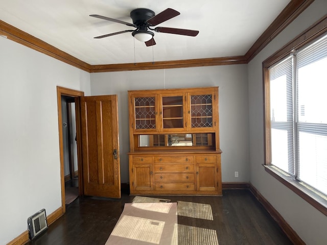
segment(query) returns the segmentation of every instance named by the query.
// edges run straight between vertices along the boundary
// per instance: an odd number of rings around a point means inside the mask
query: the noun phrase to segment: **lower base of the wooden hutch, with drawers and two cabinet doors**
[[[129,153],[129,169],[132,195],[222,193],[220,153],[217,152]]]

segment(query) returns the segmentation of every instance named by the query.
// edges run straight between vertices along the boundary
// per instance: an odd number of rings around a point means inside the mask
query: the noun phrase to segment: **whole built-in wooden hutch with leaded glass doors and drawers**
[[[128,91],[131,194],[221,195],[218,87]]]

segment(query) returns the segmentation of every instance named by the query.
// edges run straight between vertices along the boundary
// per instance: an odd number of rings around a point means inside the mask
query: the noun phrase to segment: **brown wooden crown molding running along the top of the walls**
[[[69,55],[59,48],[50,45],[26,32],[23,32],[10,24],[0,20],[0,35],[18,42],[22,45],[32,48],[45,55],[49,55],[69,65],[73,65],[87,72],[109,72],[109,71],[126,71],[126,70],[150,70],[150,69],[170,69],[182,67],[200,67],[216,66],[231,64],[247,64],[251,61],[265,46],[279,33],[281,33],[300,13],[302,13],[314,0],[292,0],[285,9],[270,24],[267,30],[259,37],[258,40],[250,47],[244,56],[231,56],[220,58],[174,60],[174,61],[157,61],[143,63],[126,63],[126,64],[103,64],[90,65],[82,60]]]

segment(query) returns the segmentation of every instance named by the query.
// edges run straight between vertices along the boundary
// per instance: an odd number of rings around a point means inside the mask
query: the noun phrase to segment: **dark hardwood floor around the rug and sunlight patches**
[[[124,204],[131,203],[133,198],[126,193],[119,200],[80,197],[66,206],[66,213],[45,233],[27,244],[104,245]],[[211,205],[214,220],[178,216],[178,224],[216,230],[219,245],[292,244],[249,190],[223,190],[223,197],[155,198]]]

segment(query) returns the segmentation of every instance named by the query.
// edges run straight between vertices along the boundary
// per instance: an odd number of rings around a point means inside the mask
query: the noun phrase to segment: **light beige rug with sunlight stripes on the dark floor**
[[[177,245],[177,203],[126,203],[105,245]]]

